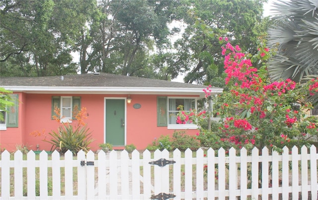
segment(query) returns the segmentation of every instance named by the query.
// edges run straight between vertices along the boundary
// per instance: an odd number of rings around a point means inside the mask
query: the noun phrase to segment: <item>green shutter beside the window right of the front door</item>
[[[166,127],[168,124],[168,104],[167,97],[157,97],[157,126]]]

